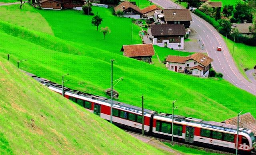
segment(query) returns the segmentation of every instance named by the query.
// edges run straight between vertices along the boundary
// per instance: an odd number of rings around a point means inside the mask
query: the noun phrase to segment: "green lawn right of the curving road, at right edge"
[[[222,37],[224,41],[226,41],[230,54],[233,55],[236,66],[238,67],[239,71],[244,75],[244,77],[246,77],[244,69],[253,69],[256,64],[256,47],[244,45],[243,43],[235,43],[233,54],[234,41],[230,39],[226,40],[226,37]]]

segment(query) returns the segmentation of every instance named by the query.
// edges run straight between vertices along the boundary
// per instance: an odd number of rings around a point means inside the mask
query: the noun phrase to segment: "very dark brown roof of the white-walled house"
[[[152,36],[185,35],[184,24],[151,25]]]

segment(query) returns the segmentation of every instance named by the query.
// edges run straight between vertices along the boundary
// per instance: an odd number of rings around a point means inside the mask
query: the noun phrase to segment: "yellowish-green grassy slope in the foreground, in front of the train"
[[[0,154],[163,154],[0,57]]]

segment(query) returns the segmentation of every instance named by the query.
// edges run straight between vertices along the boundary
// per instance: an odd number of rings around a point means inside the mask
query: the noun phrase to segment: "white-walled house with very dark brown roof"
[[[151,25],[153,44],[170,49],[184,49],[184,24]]]

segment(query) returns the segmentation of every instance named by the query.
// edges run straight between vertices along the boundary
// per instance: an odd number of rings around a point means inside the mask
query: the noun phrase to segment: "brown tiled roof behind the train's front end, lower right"
[[[255,136],[256,135],[256,120],[252,116],[252,114],[250,114],[250,112],[247,112],[245,114],[240,115],[239,119],[242,119],[239,123],[239,127],[250,129],[254,133],[254,136]],[[230,118],[228,120],[225,120],[224,122],[226,124],[232,124],[232,125],[237,126],[237,117]]]

